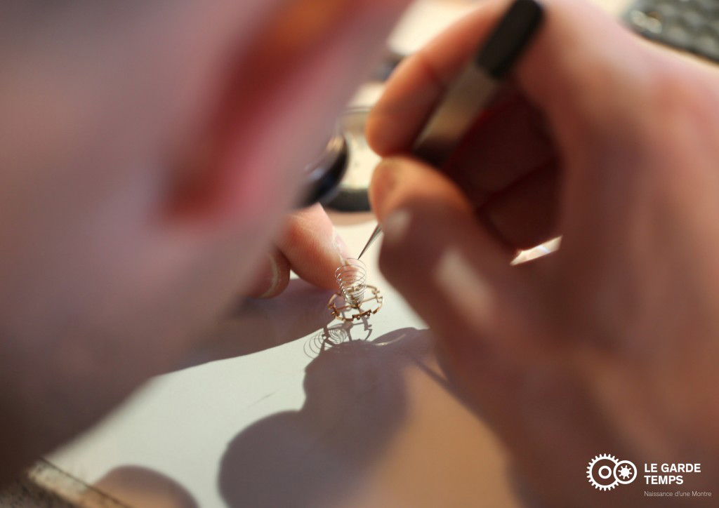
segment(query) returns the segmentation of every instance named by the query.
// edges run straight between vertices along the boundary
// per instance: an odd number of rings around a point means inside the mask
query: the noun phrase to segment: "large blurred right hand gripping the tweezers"
[[[646,485],[644,462],[702,463],[682,487],[711,490],[718,76],[585,4],[548,2],[515,90],[463,143],[450,179],[410,157],[411,143],[505,8],[482,6],[409,58],[372,112],[367,136],[387,157],[371,188],[380,265],[546,502],[651,500],[644,489],[660,487]],[[556,254],[510,266],[517,248],[557,234]],[[640,476],[613,497],[595,490],[586,471],[599,453]]]

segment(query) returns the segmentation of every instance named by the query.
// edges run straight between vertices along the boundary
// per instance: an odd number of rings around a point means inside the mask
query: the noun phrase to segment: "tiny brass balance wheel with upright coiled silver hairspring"
[[[367,268],[359,259],[347,259],[347,262],[336,269],[334,277],[339,285],[329,299],[327,308],[336,319],[353,321],[376,314],[382,308],[383,296],[375,286],[367,285]],[[367,291],[371,293],[367,297]],[[344,305],[338,306],[338,298]]]

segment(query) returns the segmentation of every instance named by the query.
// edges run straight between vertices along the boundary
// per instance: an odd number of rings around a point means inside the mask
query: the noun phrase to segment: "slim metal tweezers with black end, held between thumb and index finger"
[[[542,7],[535,0],[514,1],[436,106],[413,146],[416,157],[435,167],[444,165],[525,50],[542,18]],[[377,225],[357,259],[380,233],[382,228]]]

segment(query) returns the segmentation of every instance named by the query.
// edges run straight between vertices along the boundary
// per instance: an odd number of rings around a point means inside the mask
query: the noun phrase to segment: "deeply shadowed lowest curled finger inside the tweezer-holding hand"
[[[559,236],[559,170],[550,162],[510,188],[491,196],[477,211],[498,239],[530,249]]]

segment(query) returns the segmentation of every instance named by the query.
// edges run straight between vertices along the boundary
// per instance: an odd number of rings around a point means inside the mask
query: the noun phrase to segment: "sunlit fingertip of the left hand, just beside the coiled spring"
[[[293,213],[278,246],[304,280],[326,289],[336,288],[334,271],[344,264],[347,246],[321,205]]]

